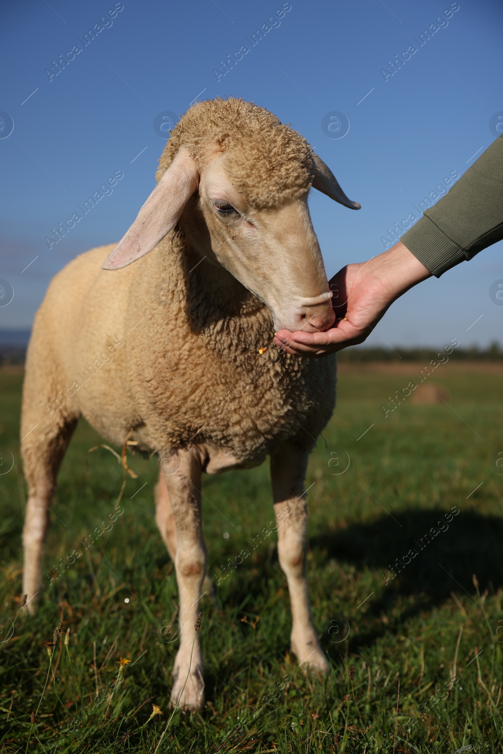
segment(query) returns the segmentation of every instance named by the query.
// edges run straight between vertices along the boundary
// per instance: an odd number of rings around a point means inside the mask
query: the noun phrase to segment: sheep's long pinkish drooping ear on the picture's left
[[[176,225],[198,185],[195,161],[185,147],[181,147],[133,225],[106,259],[103,269],[118,270],[152,251]]]

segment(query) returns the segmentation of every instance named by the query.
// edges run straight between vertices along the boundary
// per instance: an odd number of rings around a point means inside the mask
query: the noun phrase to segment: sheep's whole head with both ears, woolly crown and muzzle
[[[201,258],[222,265],[265,302],[276,329],[313,332],[333,324],[308,192],[314,185],[346,207],[360,205],[299,133],[243,100],[199,103],[173,130],[156,177],[103,268],[139,259],[182,217]]]

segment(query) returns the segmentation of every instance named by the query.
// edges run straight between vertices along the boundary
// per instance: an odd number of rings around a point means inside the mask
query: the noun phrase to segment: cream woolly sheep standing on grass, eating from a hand
[[[272,338],[333,324],[311,185],[360,205],[299,133],[238,99],[192,106],[156,179],[121,241],[69,262],[35,317],[21,421],[23,591],[33,611],[57,470],[78,418],[111,443],[157,453],[155,520],[179,588],[171,702],[195,710],[204,704],[199,636],[190,663],[207,564],[203,472],[270,455],[291,647],[304,667],[329,667],[309,611],[304,478],[335,405],[336,359],[281,354]]]

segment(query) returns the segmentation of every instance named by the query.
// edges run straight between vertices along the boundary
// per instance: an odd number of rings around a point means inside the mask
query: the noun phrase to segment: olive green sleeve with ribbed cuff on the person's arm
[[[400,241],[440,277],[503,238],[503,134]]]

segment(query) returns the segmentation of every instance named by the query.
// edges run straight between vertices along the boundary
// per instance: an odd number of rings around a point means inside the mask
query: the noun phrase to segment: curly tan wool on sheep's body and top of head
[[[173,130],[158,179],[179,146],[204,167],[215,143],[255,201],[278,204],[308,192],[315,170],[305,139],[242,100],[193,106]],[[282,181],[267,199],[270,185]],[[41,438],[50,449],[79,415],[118,445],[133,426],[131,439],[150,451],[209,443],[247,462],[284,440],[314,445],[335,404],[335,355],[300,359],[274,347],[259,354],[273,335],[268,308],[223,270],[197,265],[182,221],[139,262],[111,274],[102,265],[112,249],[69,262],[36,314],[23,397],[23,435],[38,424],[23,442],[30,483],[44,473]],[[118,335],[118,357],[72,396],[63,394],[50,415],[45,406]]]

